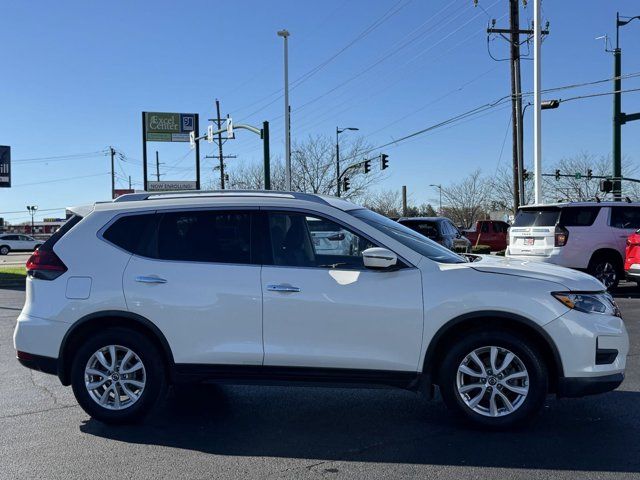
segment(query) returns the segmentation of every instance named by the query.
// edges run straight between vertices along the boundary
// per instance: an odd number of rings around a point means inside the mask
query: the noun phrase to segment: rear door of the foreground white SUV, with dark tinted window
[[[176,363],[260,365],[262,289],[250,210],[156,214],[123,276],[129,309],[167,337]]]

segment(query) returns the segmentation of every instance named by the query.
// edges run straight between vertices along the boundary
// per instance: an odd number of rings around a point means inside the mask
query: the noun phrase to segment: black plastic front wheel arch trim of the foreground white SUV
[[[468,332],[499,328],[517,335],[524,335],[540,350],[549,369],[549,387],[555,391],[558,379],[563,376],[560,353],[555,342],[544,329],[533,320],[509,312],[478,311],[460,315],[444,324],[433,336],[425,353],[422,365],[425,376],[438,383],[438,370],[446,348]]]

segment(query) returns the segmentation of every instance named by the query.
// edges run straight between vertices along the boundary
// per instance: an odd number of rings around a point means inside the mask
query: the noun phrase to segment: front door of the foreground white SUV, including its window
[[[345,237],[342,251],[315,248],[309,224]],[[265,216],[262,268],[265,366],[415,372],[422,343],[417,268],[368,270],[375,243],[333,219],[294,211]]]

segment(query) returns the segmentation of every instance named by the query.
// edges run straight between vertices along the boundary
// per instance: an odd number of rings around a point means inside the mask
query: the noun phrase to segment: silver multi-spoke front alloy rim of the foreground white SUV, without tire
[[[520,358],[503,347],[480,347],[469,353],[456,375],[462,402],[486,417],[504,417],[522,406],[529,394],[529,373]]]

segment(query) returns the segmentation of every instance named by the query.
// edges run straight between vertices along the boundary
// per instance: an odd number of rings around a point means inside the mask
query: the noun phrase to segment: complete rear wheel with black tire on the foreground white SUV
[[[113,367],[113,352],[115,369],[109,368]],[[138,362],[142,368],[136,368]],[[91,417],[109,424],[133,423],[142,420],[164,397],[166,373],[162,353],[146,336],[116,327],[96,332],[82,342],[71,366],[71,384],[76,400]],[[88,383],[100,386],[90,392]]]

